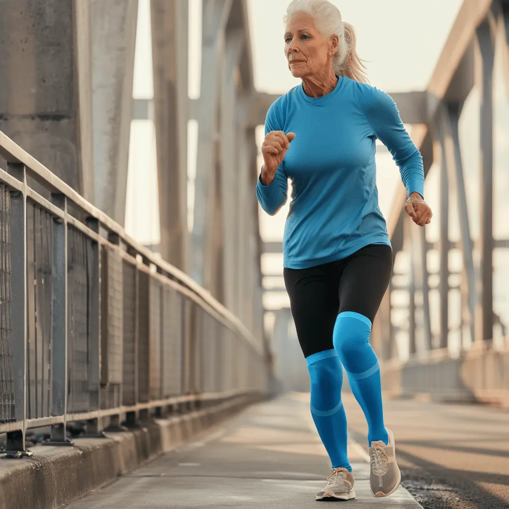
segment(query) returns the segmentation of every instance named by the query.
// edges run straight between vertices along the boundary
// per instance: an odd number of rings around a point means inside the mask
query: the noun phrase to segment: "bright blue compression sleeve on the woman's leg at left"
[[[306,357],[311,381],[311,413],[332,468],[352,467],[347,455],[347,417],[341,401],[343,367],[334,349]]]

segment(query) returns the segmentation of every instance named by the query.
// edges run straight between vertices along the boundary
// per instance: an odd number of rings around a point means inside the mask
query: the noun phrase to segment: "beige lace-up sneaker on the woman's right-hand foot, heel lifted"
[[[389,444],[381,440],[371,442],[370,489],[374,497],[386,497],[394,493],[401,483],[401,472],[396,463],[394,434],[387,429]]]

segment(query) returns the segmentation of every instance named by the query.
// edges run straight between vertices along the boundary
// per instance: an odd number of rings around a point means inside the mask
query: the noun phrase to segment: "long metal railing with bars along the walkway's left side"
[[[264,394],[264,347],[0,132],[0,433],[87,433]]]

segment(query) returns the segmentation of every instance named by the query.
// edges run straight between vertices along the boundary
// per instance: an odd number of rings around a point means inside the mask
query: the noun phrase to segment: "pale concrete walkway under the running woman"
[[[292,393],[250,407],[172,453],[120,478],[68,509],[236,509],[317,507],[330,464],[309,414],[309,396]],[[418,509],[403,488],[383,499],[369,489],[365,447],[350,444],[357,498],[349,507]]]

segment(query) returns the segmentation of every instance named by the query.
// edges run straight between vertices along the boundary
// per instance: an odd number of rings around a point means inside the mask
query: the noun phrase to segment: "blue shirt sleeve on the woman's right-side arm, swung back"
[[[407,196],[418,192],[424,197],[424,167],[422,156],[401,121],[392,98],[374,87],[365,94],[364,113],[375,136],[387,147],[400,168]]]

